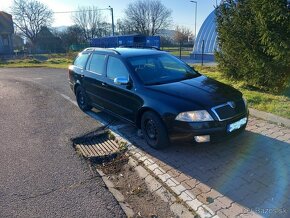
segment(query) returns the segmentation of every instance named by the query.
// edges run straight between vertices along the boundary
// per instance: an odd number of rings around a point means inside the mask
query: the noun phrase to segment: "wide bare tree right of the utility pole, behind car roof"
[[[137,0],[125,10],[126,19],[137,33],[156,35],[170,26],[171,10],[160,0]]]

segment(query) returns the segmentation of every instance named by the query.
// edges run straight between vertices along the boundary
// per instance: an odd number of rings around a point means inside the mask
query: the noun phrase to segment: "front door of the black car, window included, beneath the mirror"
[[[117,57],[109,56],[107,61],[107,74],[104,86],[105,108],[129,121],[135,121],[135,114],[142,104],[141,98],[136,94],[134,83],[118,85],[114,83],[116,77],[130,79],[129,70],[123,61]]]

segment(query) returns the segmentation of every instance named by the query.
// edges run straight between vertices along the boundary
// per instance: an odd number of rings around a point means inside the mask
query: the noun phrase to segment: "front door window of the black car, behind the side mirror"
[[[129,77],[129,73],[123,62],[114,57],[109,57],[107,77],[114,80],[116,77]]]

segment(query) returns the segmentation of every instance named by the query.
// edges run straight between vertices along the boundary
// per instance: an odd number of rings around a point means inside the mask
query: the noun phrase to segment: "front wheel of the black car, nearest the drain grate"
[[[169,138],[161,118],[154,112],[147,111],[141,119],[143,137],[148,145],[155,149],[167,147]]]

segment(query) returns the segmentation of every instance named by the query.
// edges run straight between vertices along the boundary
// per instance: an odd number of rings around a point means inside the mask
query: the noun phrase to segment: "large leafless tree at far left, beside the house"
[[[12,15],[15,26],[30,40],[32,46],[41,27],[50,26],[53,21],[52,10],[36,0],[14,0]]]

